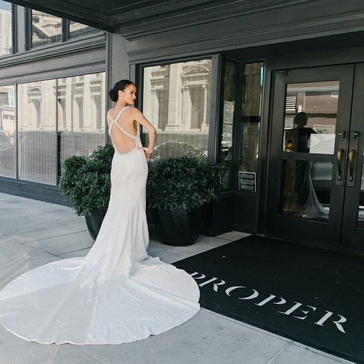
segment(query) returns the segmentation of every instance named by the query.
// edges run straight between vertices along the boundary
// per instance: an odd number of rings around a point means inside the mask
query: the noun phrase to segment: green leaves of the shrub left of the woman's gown
[[[114,148],[106,144],[99,146],[88,158],[72,156],[65,160],[60,188],[78,216],[107,209],[113,155]]]

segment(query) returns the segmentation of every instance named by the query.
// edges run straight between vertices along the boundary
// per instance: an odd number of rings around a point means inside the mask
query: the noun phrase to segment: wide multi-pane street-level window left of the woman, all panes
[[[15,95],[0,86],[0,176],[57,185],[65,159],[105,144],[105,72],[19,84],[17,105]]]

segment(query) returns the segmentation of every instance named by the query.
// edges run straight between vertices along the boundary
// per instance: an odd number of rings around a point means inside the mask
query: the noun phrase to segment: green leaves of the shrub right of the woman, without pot
[[[216,200],[224,169],[186,156],[161,159],[149,169],[148,207],[190,212]]]

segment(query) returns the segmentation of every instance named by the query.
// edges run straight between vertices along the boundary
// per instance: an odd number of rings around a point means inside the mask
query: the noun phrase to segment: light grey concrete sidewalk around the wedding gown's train
[[[84,256],[93,244],[84,217],[69,207],[0,193],[0,289],[36,266]],[[201,236],[189,247],[151,240],[149,254],[174,262],[246,236]],[[31,319],[31,318],[30,318]],[[0,364],[338,364],[326,354],[206,309],[187,323],[121,345],[44,345],[0,325]]]

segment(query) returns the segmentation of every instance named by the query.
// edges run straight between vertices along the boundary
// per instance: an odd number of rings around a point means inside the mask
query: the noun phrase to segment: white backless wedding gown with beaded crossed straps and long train
[[[122,109],[123,111],[124,109]],[[118,125],[111,120],[111,127]],[[184,270],[147,254],[148,166],[135,148],[115,149],[109,208],[86,257],[32,269],[0,292],[0,322],[39,343],[119,344],[145,339],[191,319],[199,289]]]

